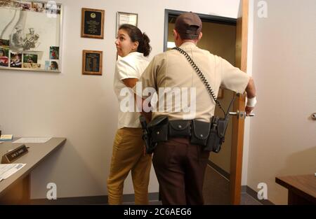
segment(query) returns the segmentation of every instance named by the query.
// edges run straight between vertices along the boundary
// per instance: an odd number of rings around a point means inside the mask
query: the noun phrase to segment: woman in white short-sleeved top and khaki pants
[[[121,90],[133,88],[141,74],[149,64],[146,58],[150,54],[150,39],[142,34],[138,27],[123,24],[117,32],[117,61],[114,76],[114,92],[119,104],[126,98]],[[128,90],[133,102],[133,92]],[[136,104],[133,104],[136,105]],[[135,204],[148,204],[148,183],[150,178],[151,157],[143,153],[142,129],[140,113],[136,110],[126,111],[120,107],[119,125],[114,138],[110,176],[107,178],[109,204],[121,204],[124,180],[131,171],[135,191]],[[135,108],[134,108],[135,109]]]

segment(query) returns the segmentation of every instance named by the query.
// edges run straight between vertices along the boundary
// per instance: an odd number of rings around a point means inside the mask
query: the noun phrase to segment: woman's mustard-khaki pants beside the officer
[[[117,130],[114,139],[110,176],[107,178],[109,204],[121,204],[124,180],[131,171],[135,191],[135,204],[148,204],[148,183],[152,157],[144,155],[142,129]]]

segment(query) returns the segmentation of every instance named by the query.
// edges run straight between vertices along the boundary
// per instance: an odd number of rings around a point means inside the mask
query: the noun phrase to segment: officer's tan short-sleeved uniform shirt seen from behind
[[[235,68],[235,66],[232,66],[232,64],[225,59],[198,48],[195,43],[186,42],[183,43],[180,48],[190,55],[195,64],[197,64],[202,73],[204,73],[204,76],[216,95],[218,94],[219,87],[224,87],[237,93],[243,93],[246,89],[246,85],[249,83],[249,76],[238,68]],[[214,114],[215,102],[210,98],[197,72],[192,68],[190,63],[187,62],[185,56],[177,50],[169,50],[156,55],[139,80],[142,84],[142,90],[145,90],[146,87],[154,87],[159,93],[159,87],[170,87],[171,89],[178,87],[179,90],[187,89],[187,96],[185,92],[181,92],[181,97],[184,97],[184,99],[188,97],[187,101],[181,99],[180,105],[175,104],[176,98],[174,97],[174,93],[176,92],[173,92],[173,101],[170,101],[170,99],[166,101],[166,95],[162,95],[162,92],[158,94],[157,108],[153,111],[152,118],[158,115],[169,115],[169,120],[195,118],[209,122],[211,116]],[[190,87],[195,87],[196,94],[192,92],[192,95],[190,95]],[[136,92],[136,87],[134,87],[133,90]],[[148,97],[148,95],[144,94],[142,96],[143,99]],[[180,97],[179,95],[176,96]],[[192,98],[196,100],[196,108],[190,106]],[[159,104],[163,106],[163,102],[165,102],[165,106],[171,107],[165,107],[164,111],[162,111],[162,108],[159,108]],[[187,108],[185,110],[182,104],[191,110],[187,110]],[[179,109],[175,106],[181,107]]]

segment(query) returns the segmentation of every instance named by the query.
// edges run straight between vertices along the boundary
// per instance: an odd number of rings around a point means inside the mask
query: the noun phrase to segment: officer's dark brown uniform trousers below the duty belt
[[[162,204],[204,204],[202,188],[208,159],[209,151],[191,144],[189,138],[159,143],[152,163]]]

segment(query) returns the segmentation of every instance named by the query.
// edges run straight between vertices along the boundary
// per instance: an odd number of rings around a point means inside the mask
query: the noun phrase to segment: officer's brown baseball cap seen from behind
[[[197,14],[186,12],[177,17],[174,27],[180,36],[197,38],[202,31],[202,21]]]

